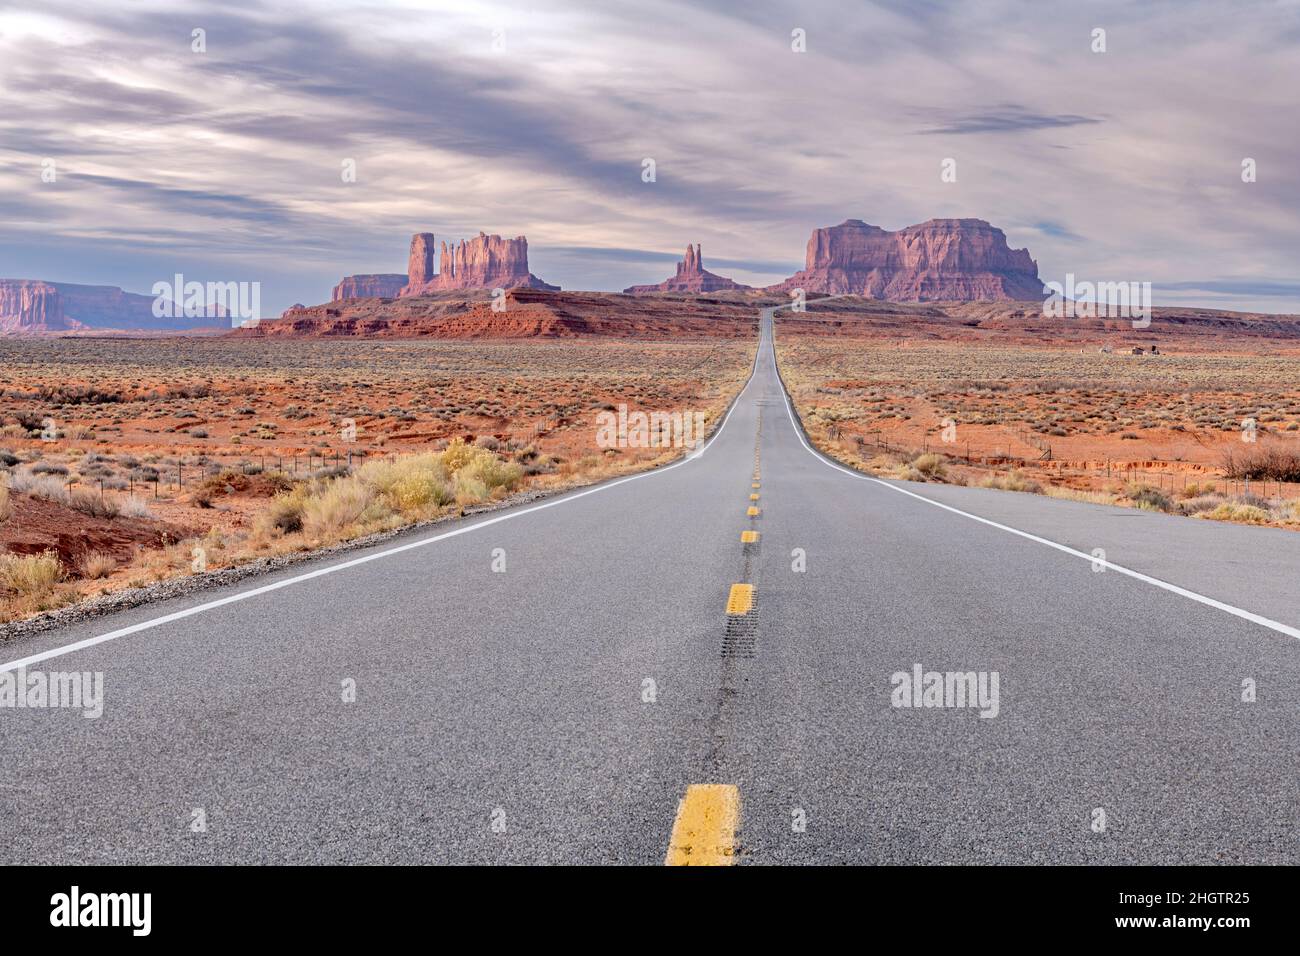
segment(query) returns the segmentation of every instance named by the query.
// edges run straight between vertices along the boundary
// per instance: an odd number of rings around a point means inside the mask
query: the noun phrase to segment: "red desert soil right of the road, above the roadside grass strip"
[[[776,341],[805,421],[855,460],[930,450],[1078,490],[1300,496],[1223,480],[1226,454],[1300,454],[1300,316],[1157,308],[1135,329],[1035,303],[844,298],[781,313]]]

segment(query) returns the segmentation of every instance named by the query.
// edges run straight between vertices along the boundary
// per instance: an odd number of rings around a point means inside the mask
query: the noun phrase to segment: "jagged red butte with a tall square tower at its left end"
[[[528,239],[516,235],[503,239],[499,235],[478,233],[472,239],[459,243],[446,242],[438,251],[438,272],[433,271],[433,233],[416,233],[411,237],[411,259],[408,281],[400,295],[422,295],[446,289],[542,289],[559,291],[559,286],[549,285],[528,271]]]

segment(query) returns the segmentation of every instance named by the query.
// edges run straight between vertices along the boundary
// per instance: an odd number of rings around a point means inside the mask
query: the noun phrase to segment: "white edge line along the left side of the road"
[[[750,384],[754,381],[754,375],[758,372],[758,362],[763,354],[763,326],[759,323],[758,333],[758,347],[754,351],[754,364],[749,369],[749,377],[745,380],[745,385],[736,394],[736,399],[731,403],[727,410],[727,415],[723,416],[723,421],[718,425],[718,429],[710,436],[698,451],[682,457],[681,459],[667,464],[662,468],[653,468],[650,471],[642,471],[636,475],[629,475],[627,477],[618,479],[616,481],[606,481],[597,485],[595,488],[588,488],[584,492],[575,492],[572,494],[566,494],[563,497],[554,498],[552,501],[543,502],[541,505],[532,505],[530,507],[520,509],[517,511],[506,511],[504,514],[497,515],[495,518],[489,518],[482,522],[474,522],[473,524],[467,524],[460,528],[454,528],[452,531],[446,531],[441,535],[434,535],[432,537],[420,538],[419,541],[411,541],[404,545],[398,545],[396,548],[386,548],[382,551],[376,551],[374,554],[365,554],[360,558],[352,558],[351,561],[343,561],[338,564],[330,564],[328,567],[316,568],[315,571],[308,571],[307,574],[295,575],[294,578],[286,578],[282,581],[274,581],[272,584],[264,584],[260,588],[251,588],[250,591],[240,591],[238,594],[229,594],[226,597],[217,598],[216,601],[207,601],[194,607],[186,607],[181,611],[174,611],[173,614],[164,614],[161,618],[151,618],[148,620],[142,620],[136,624],[130,624],[129,627],[118,628],[117,631],[109,631],[107,633],[96,635],[95,637],[86,637],[84,640],[73,641],[72,644],[65,644],[58,648],[51,648],[49,650],[42,650],[36,654],[29,654],[27,657],[21,657],[17,661],[10,661],[9,663],[0,663],[0,674],[6,671],[18,670],[20,667],[27,667],[34,663],[40,663],[42,661],[48,661],[55,657],[62,657],[64,654],[72,654],[77,650],[84,650],[86,648],[94,648],[98,644],[105,644],[108,641],[117,640],[118,637],[126,637],[133,633],[139,633],[140,631],[148,631],[155,627],[161,627],[162,624],[170,624],[174,620],[183,620],[185,618],[192,618],[195,614],[203,614],[204,611],[211,611],[216,607],[224,607],[229,604],[237,604],[239,601],[247,601],[250,597],[257,597],[259,594],[268,594],[272,591],[280,591],[281,588],[287,588],[291,584],[300,584],[302,581],[309,581],[313,578],[324,578],[325,575],[334,574],[337,571],[346,571],[350,567],[356,567],[359,564],[367,564],[372,561],[378,561],[380,558],[387,558],[394,554],[400,554],[402,551],[410,551],[415,548],[424,548],[425,545],[437,544],[438,541],[446,541],[448,537],[456,537],[459,535],[468,535],[471,531],[478,531],[480,528],[486,528],[490,524],[498,524],[499,522],[508,522],[512,518],[523,518],[524,515],[530,515],[534,511],[542,511],[549,507],[555,507],[558,505],[567,505],[571,501],[577,501],[578,498],[585,498],[589,494],[595,494],[598,492],[606,492],[611,488],[618,488],[619,485],[627,484],[628,481],[637,481],[638,479],[654,477],[655,475],[663,475],[672,471],[673,468],[680,468],[684,464],[694,462],[701,458],[705,451],[712,447],[712,444],[722,437],[723,429],[727,428],[727,423],[731,421],[732,412],[740,407],[741,399],[745,393],[749,392]]]

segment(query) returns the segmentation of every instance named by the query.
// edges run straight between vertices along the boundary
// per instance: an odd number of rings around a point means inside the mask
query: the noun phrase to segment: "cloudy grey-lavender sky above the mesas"
[[[979,217],[1045,280],[1300,312],[1296,90],[1300,0],[0,1],[0,276],[278,313],[413,232],[621,289]]]

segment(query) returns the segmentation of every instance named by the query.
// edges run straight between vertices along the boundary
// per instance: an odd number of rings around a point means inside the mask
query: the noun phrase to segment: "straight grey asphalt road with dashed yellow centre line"
[[[105,704],[0,709],[0,860],[1300,862],[1300,536],[848,473],[770,313],[702,453],[402,546],[4,648]]]

